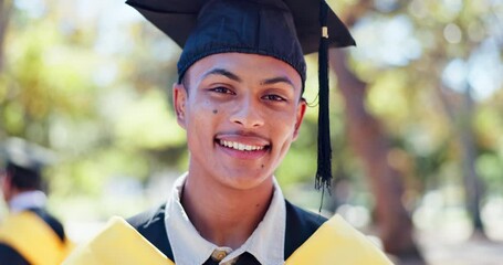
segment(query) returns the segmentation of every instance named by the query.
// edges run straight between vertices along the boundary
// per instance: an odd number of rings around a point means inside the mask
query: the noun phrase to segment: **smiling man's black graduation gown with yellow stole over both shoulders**
[[[289,201],[284,256],[286,265],[385,265],[389,259],[365,235],[335,215],[326,220]],[[64,265],[175,264],[164,223],[165,206],[127,220],[114,219]],[[111,250],[113,245],[113,251]],[[248,255],[237,265],[253,264]]]

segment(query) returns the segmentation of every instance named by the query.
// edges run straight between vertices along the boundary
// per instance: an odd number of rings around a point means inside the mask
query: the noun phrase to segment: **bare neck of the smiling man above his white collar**
[[[259,187],[237,190],[209,178],[187,177],[181,204],[202,237],[238,248],[262,221],[274,192],[272,177]]]

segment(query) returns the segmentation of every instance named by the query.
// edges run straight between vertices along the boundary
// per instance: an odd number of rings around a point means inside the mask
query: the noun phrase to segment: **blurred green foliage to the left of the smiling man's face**
[[[172,59],[146,54],[159,49],[133,22],[126,38],[139,45],[102,52],[99,26],[76,15],[85,10],[59,3],[42,1],[38,15],[33,7],[12,12],[0,73],[0,137],[19,136],[53,149],[59,160],[46,176],[52,192],[63,198],[99,197],[117,177],[145,181],[153,170],[163,170],[166,157],[176,167],[184,159],[185,136],[165,89],[158,88],[159,81],[174,80],[159,66]],[[70,22],[69,11],[76,13]],[[138,64],[147,57],[158,64]]]

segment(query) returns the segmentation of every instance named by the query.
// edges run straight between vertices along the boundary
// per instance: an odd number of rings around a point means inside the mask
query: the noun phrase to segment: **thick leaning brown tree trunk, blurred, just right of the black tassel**
[[[388,139],[378,120],[365,108],[367,84],[347,68],[344,51],[331,51],[331,66],[345,99],[349,141],[365,165],[376,200],[377,224],[385,250],[401,261],[422,263],[412,239],[412,222],[401,201],[401,176],[387,160]]]

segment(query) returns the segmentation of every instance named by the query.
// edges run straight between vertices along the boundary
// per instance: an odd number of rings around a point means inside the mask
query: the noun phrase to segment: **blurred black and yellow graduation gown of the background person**
[[[0,226],[0,264],[60,264],[72,247],[63,225],[44,209],[10,214]]]

